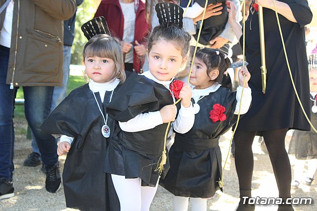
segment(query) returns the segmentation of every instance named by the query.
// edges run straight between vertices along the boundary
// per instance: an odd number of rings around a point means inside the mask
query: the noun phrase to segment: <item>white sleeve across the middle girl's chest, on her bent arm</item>
[[[149,130],[160,124],[163,124],[163,119],[159,111],[141,113],[127,122],[119,122],[121,130],[125,132]]]

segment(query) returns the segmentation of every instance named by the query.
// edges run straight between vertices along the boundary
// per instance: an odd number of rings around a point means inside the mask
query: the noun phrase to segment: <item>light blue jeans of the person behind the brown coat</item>
[[[51,110],[53,110],[56,106],[58,106],[58,104],[60,104],[60,102],[62,102],[64,98],[66,97],[67,85],[68,85],[68,79],[69,79],[69,65],[70,65],[70,58],[71,58],[70,50],[71,50],[71,46],[63,47],[63,56],[64,56],[63,84],[61,87],[54,87]],[[32,133],[32,150],[34,153],[41,155],[40,149],[38,145],[36,144],[36,140],[33,133]]]

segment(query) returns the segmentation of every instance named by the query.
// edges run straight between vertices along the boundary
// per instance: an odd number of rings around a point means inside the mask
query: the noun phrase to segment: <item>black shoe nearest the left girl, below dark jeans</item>
[[[61,187],[59,164],[56,162],[53,166],[46,165],[45,188],[50,193],[56,193]]]

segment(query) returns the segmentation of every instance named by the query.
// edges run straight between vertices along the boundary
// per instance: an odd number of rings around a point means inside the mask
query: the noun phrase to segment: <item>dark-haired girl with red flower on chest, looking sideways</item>
[[[168,153],[170,169],[160,181],[174,194],[175,211],[187,211],[189,198],[193,211],[207,210],[207,199],[219,189],[221,179],[218,139],[237,121],[244,81],[240,114],[246,113],[251,105],[250,73],[246,67],[239,70],[237,92],[221,86],[229,64],[226,55],[218,51],[201,49],[196,53],[190,76],[190,83],[195,86],[195,123],[187,133],[176,132]]]

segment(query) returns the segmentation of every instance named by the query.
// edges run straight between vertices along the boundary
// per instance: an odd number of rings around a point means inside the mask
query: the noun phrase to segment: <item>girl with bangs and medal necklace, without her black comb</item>
[[[117,39],[93,36],[84,47],[85,73],[90,82],[73,90],[42,125],[50,134],[62,134],[59,156],[67,153],[63,186],[68,208],[82,211],[119,211],[109,174],[103,172],[105,151],[114,121],[106,106],[125,80]]]

